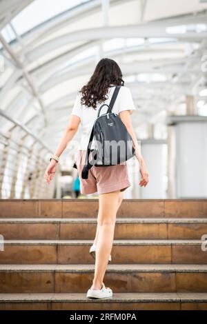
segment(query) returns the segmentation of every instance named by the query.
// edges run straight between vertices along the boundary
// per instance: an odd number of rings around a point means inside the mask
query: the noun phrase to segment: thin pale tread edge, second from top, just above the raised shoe
[[[201,240],[114,240],[113,245],[201,245]],[[4,245],[92,245],[93,240],[5,240]]]

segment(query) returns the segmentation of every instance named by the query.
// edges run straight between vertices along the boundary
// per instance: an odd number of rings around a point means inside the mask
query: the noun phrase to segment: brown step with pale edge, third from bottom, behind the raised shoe
[[[0,263],[91,264],[90,245],[90,240],[8,240]],[[207,264],[207,253],[200,240],[115,240],[112,263]]]

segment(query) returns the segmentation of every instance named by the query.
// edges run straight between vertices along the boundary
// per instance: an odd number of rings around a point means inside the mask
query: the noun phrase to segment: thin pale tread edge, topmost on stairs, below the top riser
[[[0,218],[0,223],[97,223],[97,218]],[[206,218],[136,218],[117,217],[116,223],[207,223]]]

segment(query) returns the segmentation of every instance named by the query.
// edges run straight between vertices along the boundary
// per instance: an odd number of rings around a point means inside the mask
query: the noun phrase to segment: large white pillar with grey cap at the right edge
[[[175,127],[176,198],[207,198],[207,117],[169,116]]]

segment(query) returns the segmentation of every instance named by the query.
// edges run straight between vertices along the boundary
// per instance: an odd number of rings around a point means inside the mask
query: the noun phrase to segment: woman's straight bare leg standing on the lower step
[[[99,236],[97,239],[95,276],[91,289],[101,289],[114,239],[120,190],[99,195]]]

